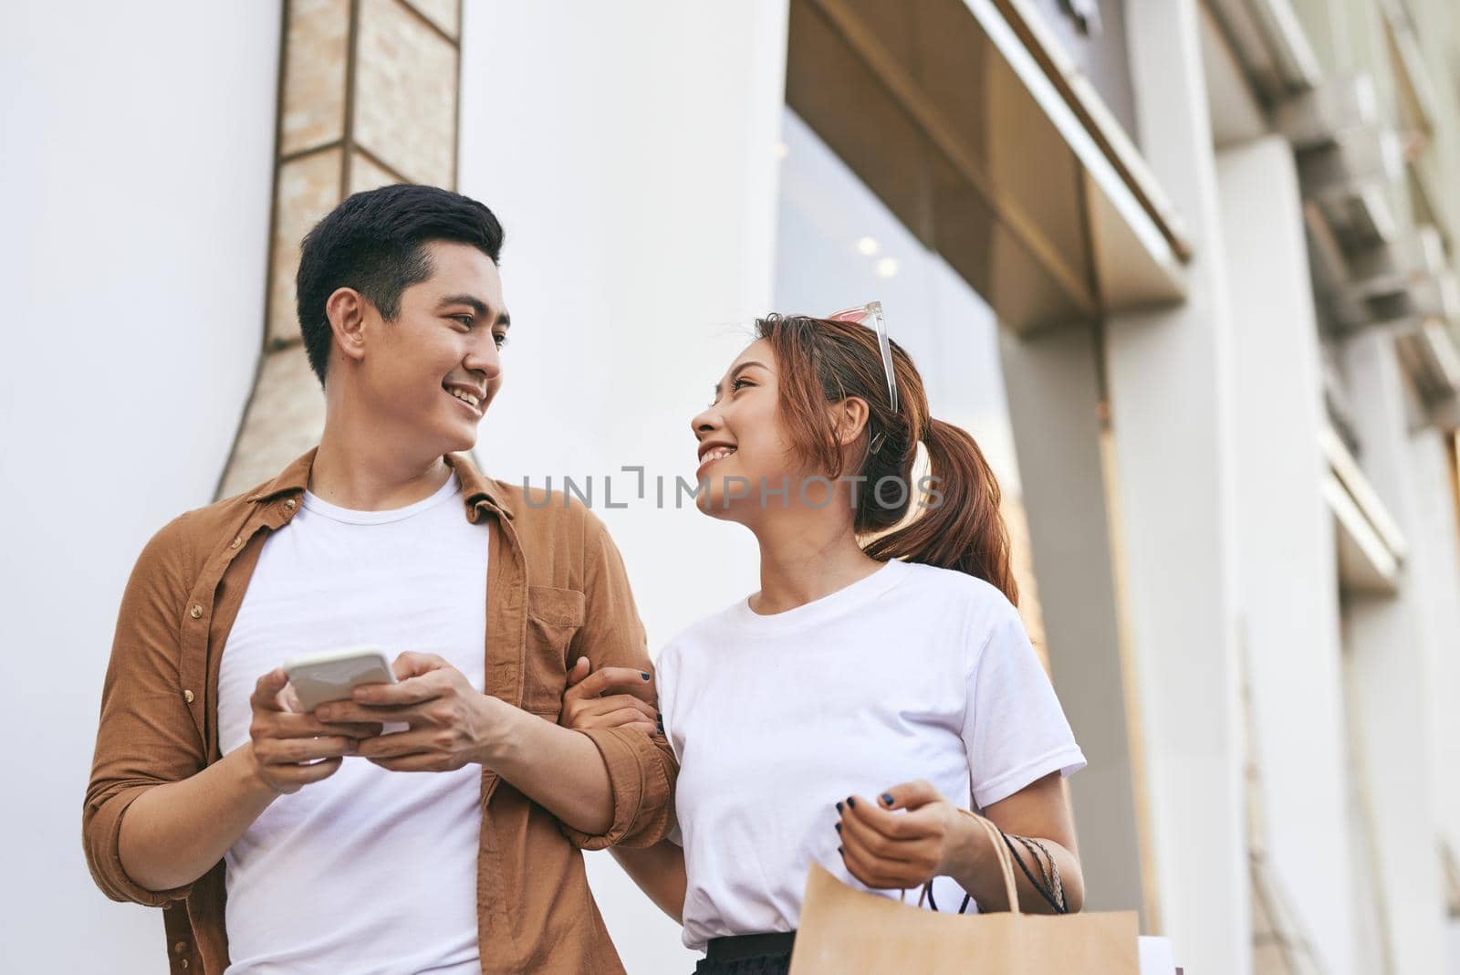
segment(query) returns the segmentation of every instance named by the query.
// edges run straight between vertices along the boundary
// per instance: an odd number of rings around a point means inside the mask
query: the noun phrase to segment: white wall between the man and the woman
[[[785,0],[466,6],[460,190],[507,228],[514,323],[477,457],[534,485],[594,477],[651,654],[756,588],[750,536],[676,511],[673,483],[694,477],[691,416],[771,308],[785,23]],[[607,476],[628,508],[604,506]],[[694,966],[607,854],[588,874],[631,972]]]

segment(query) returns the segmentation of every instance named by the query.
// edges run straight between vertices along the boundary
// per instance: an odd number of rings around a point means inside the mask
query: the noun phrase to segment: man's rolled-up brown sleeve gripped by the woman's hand
[[[587,657],[599,667],[653,671],[644,623],[634,607],[628,572],[603,523],[584,512],[584,623],[574,636],[571,658]],[[564,826],[577,847],[653,847],[675,828],[675,778],[679,765],[663,734],[632,728],[600,728],[585,734],[609,769],[613,822],[602,835]]]

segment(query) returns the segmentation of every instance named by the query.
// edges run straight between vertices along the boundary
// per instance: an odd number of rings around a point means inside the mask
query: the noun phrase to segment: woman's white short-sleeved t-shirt
[[[794,930],[812,861],[866,890],[837,852],[848,795],[927,779],[983,809],[1085,766],[1018,610],[964,572],[894,560],[784,613],[740,600],[657,668],[692,949]],[[950,877],[933,893],[942,911],[964,899]]]

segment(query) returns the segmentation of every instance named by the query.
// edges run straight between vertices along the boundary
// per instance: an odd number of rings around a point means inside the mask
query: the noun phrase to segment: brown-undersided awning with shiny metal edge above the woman
[[[1012,328],[1184,298],[1180,222],[1023,0],[791,0],[785,96]]]

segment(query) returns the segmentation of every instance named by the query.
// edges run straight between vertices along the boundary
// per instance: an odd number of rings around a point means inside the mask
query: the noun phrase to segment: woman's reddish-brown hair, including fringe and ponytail
[[[832,480],[866,477],[858,483],[853,523],[858,536],[875,536],[863,544],[866,553],[879,562],[896,558],[968,572],[1018,604],[999,482],[967,431],[929,415],[923,377],[902,347],[892,343],[899,406],[894,413],[872,328],[804,315],[766,315],[755,324],[756,339],[765,339],[775,352],[781,420],[799,460]],[[841,441],[826,409],[850,396],[866,400],[869,407],[861,466],[851,474],[844,470]],[[873,451],[879,435],[880,445]],[[918,485],[912,483],[918,441],[927,448],[936,493],[911,523],[888,531],[918,498]],[[901,479],[907,489],[877,490],[883,477]]]

